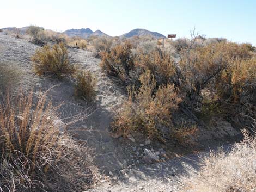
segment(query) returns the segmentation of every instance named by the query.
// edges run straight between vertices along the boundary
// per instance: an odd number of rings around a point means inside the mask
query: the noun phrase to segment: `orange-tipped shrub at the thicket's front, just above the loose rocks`
[[[174,86],[167,84],[156,90],[156,81],[149,70],[139,80],[142,85],[138,90],[128,89],[128,100],[112,123],[113,129],[123,129],[125,134],[142,131],[151,138],[169,139],[172,113],[181,101]]]

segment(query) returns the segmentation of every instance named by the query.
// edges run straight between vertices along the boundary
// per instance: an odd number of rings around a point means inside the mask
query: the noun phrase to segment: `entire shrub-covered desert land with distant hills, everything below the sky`
[[[255,47],[64,33],[0,32],[1,191],[255,189]]]

